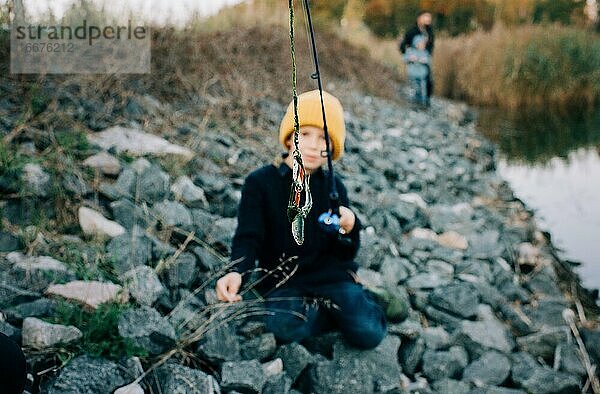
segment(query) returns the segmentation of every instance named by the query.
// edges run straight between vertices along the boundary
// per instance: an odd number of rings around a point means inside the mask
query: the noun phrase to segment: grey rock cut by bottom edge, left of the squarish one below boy
[[[168,362],[156,370],[160,392],[177,394],[220,394],[219,384],[211,375]]]

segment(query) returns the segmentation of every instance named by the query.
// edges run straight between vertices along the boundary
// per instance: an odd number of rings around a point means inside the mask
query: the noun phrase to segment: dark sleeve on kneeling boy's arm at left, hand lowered
[[[231,245],[230,271],[245,273],[255,267],[258,251],[265,238],[264,196],[256,177],[249,175],[242,188],[238,207],[238,225]]]

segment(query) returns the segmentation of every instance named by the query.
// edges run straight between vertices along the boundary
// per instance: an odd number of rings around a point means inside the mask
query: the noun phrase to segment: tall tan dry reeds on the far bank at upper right
[[[563,26],[523,26],[437,40],[436,93],[508,109],[591,111],[600,99],[600,39]]]

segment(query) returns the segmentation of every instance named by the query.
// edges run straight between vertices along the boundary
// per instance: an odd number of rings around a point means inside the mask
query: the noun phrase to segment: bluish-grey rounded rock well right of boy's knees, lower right
[[[479,294],[469,283],[454,282],[432,291],[429,302],[437,308],[468,319],[477,314]]]

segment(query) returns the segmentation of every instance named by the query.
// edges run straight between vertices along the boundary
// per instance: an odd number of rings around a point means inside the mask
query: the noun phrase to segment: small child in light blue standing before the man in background
[[[425,49],[426,45],[427,38],[420,34],[416,35],[412,45],[406,49],[404,61],[415,92],[414,100],[419,104],[428,106],[427,80],[431,69],[431,55]]]

